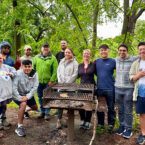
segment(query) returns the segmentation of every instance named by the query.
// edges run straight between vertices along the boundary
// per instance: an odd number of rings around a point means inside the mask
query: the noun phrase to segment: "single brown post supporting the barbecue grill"
[[[74,110],[73,109],[68,110],[67,125],[68,125],[68,142],[69,145],[73,145],[73,141],[74,141]]]

